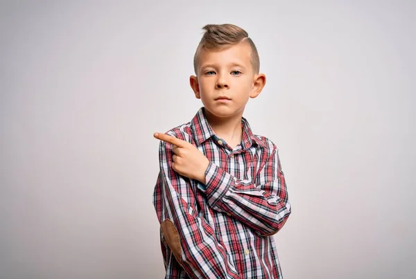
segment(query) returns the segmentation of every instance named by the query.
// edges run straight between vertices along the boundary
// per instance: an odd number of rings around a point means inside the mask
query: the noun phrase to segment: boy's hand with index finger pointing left
[[[155,133],[153,136],[173,145],[172,168],[175,172],[205,184],[205,171],[208,168],[209,160],[202,152],[191,143],[174,136],[162,133]]]

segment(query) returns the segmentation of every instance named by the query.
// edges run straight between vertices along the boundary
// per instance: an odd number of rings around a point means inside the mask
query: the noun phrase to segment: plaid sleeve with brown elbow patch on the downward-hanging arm
[[[159,146],[161,231],[175,259],[191,278],[239,278],[232,260],[205,218],[198,216],[191,183],[171,166],[172,145]]]

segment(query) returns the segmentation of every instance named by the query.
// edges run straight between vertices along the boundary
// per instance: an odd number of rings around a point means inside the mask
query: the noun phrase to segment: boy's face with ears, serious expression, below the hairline
[[[200,51],[197,77],[191,76],[196,98],[211,114],[225,118],[242,115],[248,98],[263,89],[266,77],[252,68],[249,44],[220,51]]]

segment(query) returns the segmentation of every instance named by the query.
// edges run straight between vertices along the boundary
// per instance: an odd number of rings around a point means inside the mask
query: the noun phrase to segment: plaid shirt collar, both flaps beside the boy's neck
[[[257,136],[254,136],[247,119],[241,118],[241,127],[243,128],[243,136],[241,138],[241,147],[243,150],[251,147],[252,143],[257,143],[262,147],[267,147],[266,143],[263,143],[263,141],[259,140]],[[216,136],[211,125],[209,125],[207,118],[205,118],[205,107],[201,107],[196,113],[196,116],[193,117],[191,121],[191,130],[193,138],[198,145],[207,141],[207,139],[211,138],[211,136]]]

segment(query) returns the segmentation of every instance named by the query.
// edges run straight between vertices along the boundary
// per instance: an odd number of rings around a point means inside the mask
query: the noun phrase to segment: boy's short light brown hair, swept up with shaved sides
[[[218,51],[241,42],[248,42],[250,45],[252,68],[254,73],[259,73],[259,53],[257,52],[256,45],[252,39],[248,37],[248,33],[245,30],[233,24],[207,24],[202,29],[205,30],[205,33],[202,35],[202,39],[193,56],[193,70],[195,73],[197,73],[198,57],[202,49],[207,51]]]

